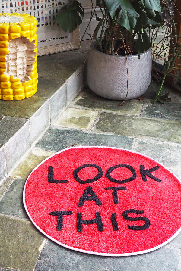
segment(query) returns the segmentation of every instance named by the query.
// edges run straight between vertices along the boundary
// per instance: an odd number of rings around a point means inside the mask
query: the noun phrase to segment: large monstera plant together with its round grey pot
[[[161,9],[165,5],[165,0],[96,0],[94,12],[99,8],[102,17],[96,15],[95,42],[87,61],[87,83],[93,92],[117,100],[136,98],[146,92],[152,66],[148,33],[151,28],[164,25]],[[62,30],[72,32],[83,16],[81,4],[70,0],[56,21]],[[156,92],[159,96],[160,92]]]

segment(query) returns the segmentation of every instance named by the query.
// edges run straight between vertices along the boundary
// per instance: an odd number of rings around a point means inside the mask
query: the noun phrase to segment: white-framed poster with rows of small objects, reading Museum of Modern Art
[[[0,13],[27,13],[37,19],[37,55],[80,48],[80,28],[65,33],[55,18],[68,0],[1,0]]]

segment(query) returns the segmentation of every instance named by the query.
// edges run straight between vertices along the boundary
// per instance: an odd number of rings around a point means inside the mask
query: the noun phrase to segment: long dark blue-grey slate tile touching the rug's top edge
[[[131,149],[132,144],[133,139],[129,137],[50,127],[37,142],[36,147],[57,152],[73,146],[110,146]]]

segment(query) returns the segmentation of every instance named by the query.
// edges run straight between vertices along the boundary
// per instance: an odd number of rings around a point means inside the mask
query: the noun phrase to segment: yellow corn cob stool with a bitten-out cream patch
[[[37,21],[29,14],[0,14],[0,99],[37,92]]]

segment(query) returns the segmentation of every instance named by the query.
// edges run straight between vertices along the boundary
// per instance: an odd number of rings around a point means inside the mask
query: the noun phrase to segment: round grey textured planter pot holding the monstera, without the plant
[[[108,55],[90,46],[87,61],[87,83],[89,88],[104,98],[127,100],[137,98],[146,92],[151,82],[151,48],[138,55],[127,56],[128,76],[125,56]],[[92,50],[94,49],[94,50]]]

